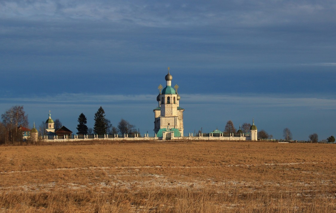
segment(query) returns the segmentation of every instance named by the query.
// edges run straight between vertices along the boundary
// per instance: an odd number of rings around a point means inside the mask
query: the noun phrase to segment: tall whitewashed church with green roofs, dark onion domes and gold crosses
[[[154,132],[162,139],[174,139],[183,137],[183,111],[179,107],[180,96],[177,94],[178,86],[171,87],[173,76],[169,73],[165,76],[166,87],[162,90],[162,85],[158,87],[159,95],[156,100],[159,106],[153,110],[155,114]],[[176,90],[176,91],[175,91]]]

